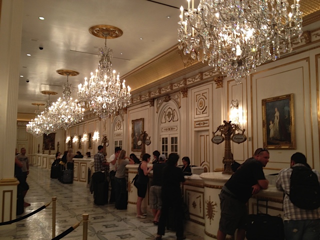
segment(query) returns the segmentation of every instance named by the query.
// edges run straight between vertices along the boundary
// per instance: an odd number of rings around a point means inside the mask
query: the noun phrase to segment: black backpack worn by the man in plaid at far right
[[[317,175],[306,166],[293,166],[290,176],[290,201],[302,209],[320,206],[320,184]]]

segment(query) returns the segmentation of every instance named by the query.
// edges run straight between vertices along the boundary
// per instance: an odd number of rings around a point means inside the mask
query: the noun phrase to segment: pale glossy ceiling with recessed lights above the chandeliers
[[[196,6],[199,0],[194,2]],[[320,10],[318,0],[300,3],[305,14]],[[43,90],[58,92],[50,96],[53,101],[62,96],[66,76],[59,75],[58,69],[79,72],[69,77],[72,96],[77,98],[77,85],[95,71],[98,48],[104,46],[103,38],[89,33],[91,26],[112,25],[123,31],[120,37],[106,40],[113,50],[113,69],[121,77],[177,44],[180,5],[187,8],[187,1],[24,0],[18,113],[34,113],[37,107],[31,103],[45,103],[48,95]],[[133,91],[146,85],[142,78],[132,79],[126,83]]]

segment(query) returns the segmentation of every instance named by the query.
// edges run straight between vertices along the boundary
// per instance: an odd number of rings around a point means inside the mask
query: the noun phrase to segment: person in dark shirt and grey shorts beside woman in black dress
[[[153,224],[157,225],[159,222],[159,217],[161,214],[161,179],[162,179],[162,169],[166,164],[164,163],[166,157],[164,154],[159,155],[159,162],[153,164],[153,177],[151,181],[151,186],[149,190],[150,195],[150,207],[153,214]]]

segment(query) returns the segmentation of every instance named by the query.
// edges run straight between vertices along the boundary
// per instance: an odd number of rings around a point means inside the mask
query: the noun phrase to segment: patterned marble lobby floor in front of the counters
[[[62,184],[50,178],[50,172],[34,166],[30,167],[27,177],[28,190],[25,201],[31,206],[25,207],[22,215],[32,212],[50,202],[56,196],[56,235],[68,229],[82,219],[83,213],[89,214],[87,239],[154,239],[157,226],[148,212],[146,218],[136,218],[136,213],[129,210],[117,210],[113,204],[97,206],[93,195],[84,183]],[[82,223],[62,239],[82,239]],[[199,240],[189,231],[184,232],[186,239]],[[52,204],[38,213],[16,222],[16,231],[10,236],[0,236],[0,240],[52,238]],[[176,239],[175,232],[167,230],[162,239]]]

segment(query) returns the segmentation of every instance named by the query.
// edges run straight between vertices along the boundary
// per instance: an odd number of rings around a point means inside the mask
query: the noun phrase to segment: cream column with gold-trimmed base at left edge
[[[16,218],[14,148],[19,87],[23,0],[0,1],[0,222]],[[15,224],[0,226],[0,235]]]

